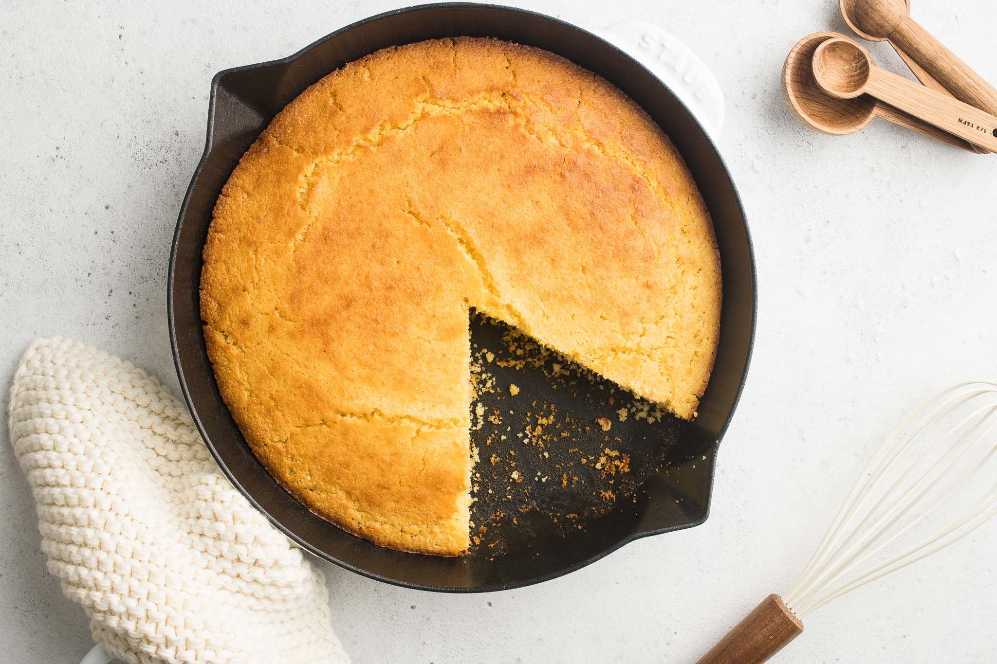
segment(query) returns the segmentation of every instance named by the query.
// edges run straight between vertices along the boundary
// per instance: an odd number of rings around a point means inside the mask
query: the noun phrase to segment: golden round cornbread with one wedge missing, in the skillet
[[[298,500],[394,549],[469,544],[469,310],[694,416],[720,262],[682,158],[599,77],[491,39],[385,49],[281,111],[225,184],[201,318]]]

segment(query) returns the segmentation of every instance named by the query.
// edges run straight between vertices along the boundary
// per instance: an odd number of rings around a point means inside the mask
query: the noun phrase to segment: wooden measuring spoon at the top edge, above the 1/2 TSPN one
[[[997,114],[997,90],[910,18],[909,0],[838,0],[845,23],[859,36],[888,40],[897,53],[923,68],[956,99]],[[917,75],[917,70],[911,67]],[[918,76],[920,79],[920,76]],[[930,84],[921,79],[928,87]]]

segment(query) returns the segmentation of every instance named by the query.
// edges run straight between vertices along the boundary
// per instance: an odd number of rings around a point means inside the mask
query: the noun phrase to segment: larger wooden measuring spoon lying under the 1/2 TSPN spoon
[[[840,100],[831,97],[814,80],[814,52],[836,32],[817,32],[797,42],[783,65],[783,100],[801,124],[815,131],[843,135],[854,133],[875,117],[888,119],[956,147],[972,151],[969,143],[927,122],[897,111],[870,97]]]

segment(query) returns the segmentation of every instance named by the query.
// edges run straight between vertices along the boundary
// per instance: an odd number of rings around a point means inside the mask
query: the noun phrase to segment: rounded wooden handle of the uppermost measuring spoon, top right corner
[[[956,99],[997,114],[997,90],[909,16],[889,36],[898,50],[910,56]]]

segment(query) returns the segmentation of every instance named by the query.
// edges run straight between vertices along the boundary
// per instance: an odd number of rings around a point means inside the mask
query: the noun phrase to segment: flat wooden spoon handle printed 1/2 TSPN
[[[870,69],[862,92],[971,143],[997,150],[997,117],[986,111],[878,67]]]

